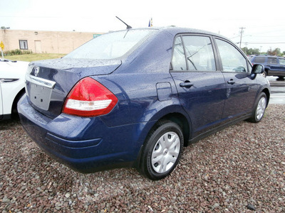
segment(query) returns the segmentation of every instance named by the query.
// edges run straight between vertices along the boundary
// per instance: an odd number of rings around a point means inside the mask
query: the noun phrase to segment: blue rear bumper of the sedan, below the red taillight
[[[138,124],[108,127],[100,117],[61,114],[50,119],[23,97],[19,116],[29,136],[52,158],[81,173],[132,166],[141,146],[134,141]]]

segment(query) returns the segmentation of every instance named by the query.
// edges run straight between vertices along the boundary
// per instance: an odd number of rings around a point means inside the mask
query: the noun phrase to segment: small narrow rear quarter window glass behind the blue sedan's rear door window
[[[185,53],[182,45],[181,37],[177,37],[175,40],[175,47],[172,57],[172,69],[173,70],[187,70]]]

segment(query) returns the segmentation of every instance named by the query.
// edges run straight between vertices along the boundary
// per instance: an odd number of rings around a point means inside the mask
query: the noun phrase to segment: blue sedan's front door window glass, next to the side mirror
[[[224,40],[216,39],[224,72],[248,72],[247,60],[239,50]]]

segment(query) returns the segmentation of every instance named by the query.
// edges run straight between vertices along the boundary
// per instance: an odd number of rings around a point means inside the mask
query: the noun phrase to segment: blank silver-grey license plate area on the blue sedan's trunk
[[[51,102],[52,89],[30,82],[29,98],[31,102],[38,108],[48,110]]]

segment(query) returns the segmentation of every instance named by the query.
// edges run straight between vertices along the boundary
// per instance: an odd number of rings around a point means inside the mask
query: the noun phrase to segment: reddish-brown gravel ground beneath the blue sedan
[[[0,212],[285,212],[285,105],[188,146],[164,180],[133,168],[83,175],[0,122]]]

